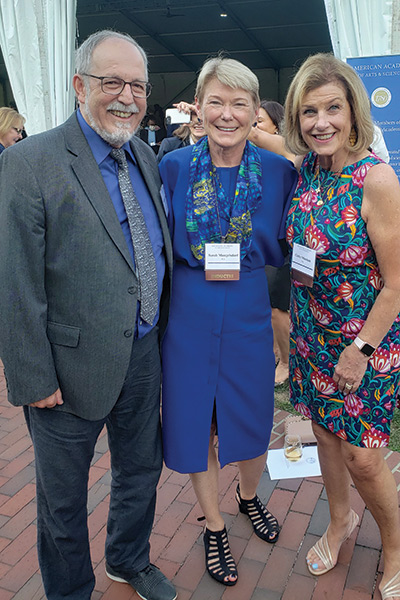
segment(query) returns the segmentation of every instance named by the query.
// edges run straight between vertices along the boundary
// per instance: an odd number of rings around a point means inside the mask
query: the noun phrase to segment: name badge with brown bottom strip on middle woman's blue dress
[[[237,281],[240,276],[240,244],[205,244],[207,281]]]

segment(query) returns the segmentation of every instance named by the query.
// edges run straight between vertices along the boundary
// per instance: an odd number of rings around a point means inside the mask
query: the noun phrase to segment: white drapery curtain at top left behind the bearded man
[[[0,0],[0,46],[28,134],[74,110],[76,0]]]

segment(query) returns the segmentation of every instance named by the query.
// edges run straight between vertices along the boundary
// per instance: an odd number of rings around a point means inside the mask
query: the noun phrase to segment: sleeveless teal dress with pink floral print
[[[300,413],[362,447],[389,443],[400,376],[399,317],[354,393],[339,392],[332,376],[383,286],[361,218],[365,176],[380,162],[369,155],[345,167],[339,178],[324,169],[318,176],[317,157],[308,154],[287,221],[289,245],[297,242],[317,252],[312,288],[296,281],[292,286],[290,399]]]

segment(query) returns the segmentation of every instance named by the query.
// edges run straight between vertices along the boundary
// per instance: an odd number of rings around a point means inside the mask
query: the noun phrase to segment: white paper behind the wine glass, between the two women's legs
[[[294,479],[296,477],[318,477],[321,475],[317,446],[303,446],[303,456],[297,462],[285,458],[283,448],[269,450],[267,467],[271,479]]]

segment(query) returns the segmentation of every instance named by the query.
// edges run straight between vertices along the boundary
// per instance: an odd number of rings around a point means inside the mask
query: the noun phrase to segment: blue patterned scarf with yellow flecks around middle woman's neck
[[[240,163],[233,203],[227,198],[211,161],[207,137],[193,146],[186,195],[186,231],[193,256],[204,264],[206,243],[239,243],[243,259],[252,237],[251,214],[261,202],[261,159],[250,142]],[[222,236],[220,217],[229,221]]]

